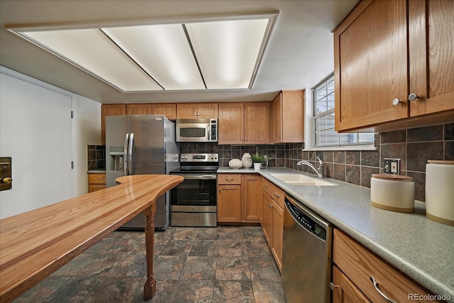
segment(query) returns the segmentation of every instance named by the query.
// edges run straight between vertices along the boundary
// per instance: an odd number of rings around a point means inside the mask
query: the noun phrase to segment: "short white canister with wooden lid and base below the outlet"
[[[373,174],[370,178],[370,204],[389,211],[413,212],[413,178],[402,175]]]

